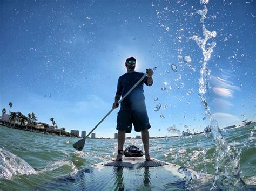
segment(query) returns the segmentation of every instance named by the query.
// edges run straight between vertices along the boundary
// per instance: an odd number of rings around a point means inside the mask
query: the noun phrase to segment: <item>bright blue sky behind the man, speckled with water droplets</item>
[[[219,127],[255,120],[255,1],[209,1],[206,29],[216,31],[206,93]],[[152,68],[144,86],[150,136],[203,131],[210,124],[198,96],[203,36],[198,1],[1,1],[0,108],[66,131],[91,131],[112,108],[125,60]],[[207,45],[208,46],[208,45]],[[188,57],[189,56],[189,57]],[[172,64],[177,71],[172,70]],[[154,111],[161,103],[159,111]],[[114,137],[114,110],[95,130]],[[132,131],[126,136],[140,135]]]

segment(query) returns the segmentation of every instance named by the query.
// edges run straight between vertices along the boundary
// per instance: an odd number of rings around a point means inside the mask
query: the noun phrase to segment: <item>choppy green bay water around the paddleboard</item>
[[[256,185],[255,132],[256,123],[222,132],[226,142],[241,151],[240,176],[248,185]],[[52,179],[110,160],[117,153],[114,139],[86,139],[81,152],[72,147],[77,140],[0,126],[0,190],[33,190]],[[132,144],[143,149],[142,140],[125,142],[125,146]],[[215,172],[212,133],[150,139],[150,154],[197,172]]]

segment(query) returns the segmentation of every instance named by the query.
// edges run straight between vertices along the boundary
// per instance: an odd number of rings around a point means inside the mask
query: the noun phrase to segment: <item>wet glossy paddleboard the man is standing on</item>
[[[212,175],[145,157],[123,157],[81,169],[44,185],[64,190],[207,190]]]

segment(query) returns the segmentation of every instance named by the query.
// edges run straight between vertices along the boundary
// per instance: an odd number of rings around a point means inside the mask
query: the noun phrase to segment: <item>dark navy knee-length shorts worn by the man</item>
[[[136,132],[151,128],[144,100],[131,104],[121,104],[120,111],[117,114],[116,129],[130,133],[132,131],[132,124]]]

